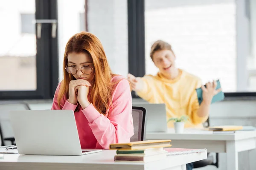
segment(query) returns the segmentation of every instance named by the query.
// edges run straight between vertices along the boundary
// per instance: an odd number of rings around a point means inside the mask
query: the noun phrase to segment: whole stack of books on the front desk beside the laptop
[[[111,144],[110,149],[117,149],[115,161],[148,162],[165,159],[166,147],[171,147],[171,140],[147,140],[122,144]]]

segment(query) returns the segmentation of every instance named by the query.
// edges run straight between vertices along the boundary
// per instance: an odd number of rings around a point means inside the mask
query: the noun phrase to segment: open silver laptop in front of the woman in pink
[[[72,110],[10,111],[18,153],[84,155],[102,150],[81,149]]]

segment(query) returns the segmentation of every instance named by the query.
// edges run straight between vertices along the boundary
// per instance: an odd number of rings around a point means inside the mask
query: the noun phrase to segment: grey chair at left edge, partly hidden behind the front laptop
[[[14,133],[9,120],[9,111],[30,110],[29,105],[23,101],[0,101],[0,146],[15,144]]]

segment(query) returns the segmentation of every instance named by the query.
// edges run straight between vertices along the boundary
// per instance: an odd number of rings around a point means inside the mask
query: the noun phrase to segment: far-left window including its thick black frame
[[[45,10],[44,8],[50,9]],[[8,0],[0,3],[0,99],[49,99],[58,81],[56,42],[51,24],[56,19],[55,0]],[[56,65],[55,65],[56,64]],[[54,90],[53,90],[54,89]]]

